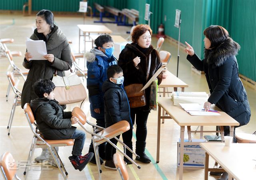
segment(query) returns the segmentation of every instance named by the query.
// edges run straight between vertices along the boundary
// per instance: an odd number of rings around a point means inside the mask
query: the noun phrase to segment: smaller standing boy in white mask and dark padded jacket
[[[105,126],[109,127],[119,121],[126,120],[130,123],[130,129],[122,133],[124,144],[132,149],[132,119],[130,117],[130,106],[126,92],[124,90],[124,74],[121,67],[118,65],[112,65],[107,70],[108,79],[102,85],[102,91],[104,94],[104,109],[105,109]],[[117,136],[118,138],[120,137]],[[115,145],[116,139],[110,140]],[[106,162],[105,168],[116,170],[116,166],[113,162],[113,155],[116,153],[116,149],[110,144],[106,145]],[[126,155],[132,159],[132,153],[126,151]],[[126,157],[124,161],[127,164],[132,164]]]

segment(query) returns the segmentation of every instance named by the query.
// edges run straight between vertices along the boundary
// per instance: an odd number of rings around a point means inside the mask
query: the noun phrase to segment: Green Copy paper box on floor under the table
[[[188,142],[188,139],[184,139]],[[205,142],[205,139],[192,139],[192,142]],[[177,166],[180,166],[180,139],[177,143]],[[205,151],[199,145],[184,145],[184,167],[204,168]]]

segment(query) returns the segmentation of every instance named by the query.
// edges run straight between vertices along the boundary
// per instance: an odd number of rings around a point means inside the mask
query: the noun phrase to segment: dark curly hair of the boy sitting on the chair
[[[54,90],[55,85],[50,79],[39,79],[32,88],[39,98],[44,98],[44,93],[50,94]]]

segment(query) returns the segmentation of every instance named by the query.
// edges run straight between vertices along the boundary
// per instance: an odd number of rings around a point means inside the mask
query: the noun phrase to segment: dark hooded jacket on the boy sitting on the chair
[[[37,98],[30,102],[36,124],[45,139],[70,139],[76,130],[71,126],[71,112],[64,112],[56,100]]]

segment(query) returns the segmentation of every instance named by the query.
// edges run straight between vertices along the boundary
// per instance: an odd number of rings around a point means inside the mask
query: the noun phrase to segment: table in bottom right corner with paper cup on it
[[[216,169],[208,168],[209,155],[228,172],[229,180],[256,179],[256,143],[232,143],[230,147],[224,143],[200,143],[200,147],[206,151],[205,180],[208,180],[208,171]]]

